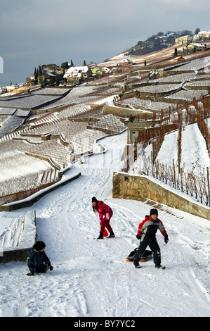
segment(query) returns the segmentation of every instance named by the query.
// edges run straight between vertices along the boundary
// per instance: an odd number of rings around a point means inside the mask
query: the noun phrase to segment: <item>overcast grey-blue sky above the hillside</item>
[[[209,0],[0,0],[0,86],[39,64],[100,63],[157,32],[209,31],[209,13]]]

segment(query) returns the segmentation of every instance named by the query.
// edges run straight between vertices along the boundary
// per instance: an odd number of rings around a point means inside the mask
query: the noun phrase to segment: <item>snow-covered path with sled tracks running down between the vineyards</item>
[[[28,277],[24,262],[0,266],[0,316],[210,316],[208,221],[162,206],[159,218],[169,243],[160,233],[157,240],[166,270],[156,270],[152,260],[141,269],[125,261],[138,245],[138,224],[150,211],[140,201],[112,199],[112,170],[125,143],[126,132],[104,138],[106,154],[70,170],[81,171],[81,177],[31,207],[54,268]],[[113,208],[115,238],[93,238],[99,220],[92,196]]]

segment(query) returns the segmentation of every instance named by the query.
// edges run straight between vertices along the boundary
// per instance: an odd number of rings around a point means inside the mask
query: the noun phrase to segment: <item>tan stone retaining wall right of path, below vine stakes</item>
[[[114,172],[112,183],[113,198],[138,201],[150,199],[159,204],[165,204],[166,206],[210,220],[210,208],[193,203],[143,175]]]

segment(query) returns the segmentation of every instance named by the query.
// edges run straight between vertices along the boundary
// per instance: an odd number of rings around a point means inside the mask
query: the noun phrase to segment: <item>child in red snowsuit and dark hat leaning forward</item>
[[[93,196],[92,198],[92,206],[94,212],[98,211],[100,219],[100,235],[97,239],[103,239],[103,232],[105,231],[105,227],[110,232],[108,238],[115,237],[112,227],[110,225],[110,220],[113,215],[112,208],[110,208],[110,206],[107,206],[107,204],[105,204],[103,201],[98,201],[95,196]]]

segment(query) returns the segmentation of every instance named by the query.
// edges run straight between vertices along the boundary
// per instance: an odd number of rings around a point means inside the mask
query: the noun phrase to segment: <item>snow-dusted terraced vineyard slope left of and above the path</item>
[[[92,151],[96,139],[126,129],[129,115],[120,113],[122,106],[157,118],[170,108],[176,117],[185,102],[209,93],[209,61],[210,56],[181,65],[164,61],[158,70],[137,65],[73,88],[1,98],[1,196],[57,181],[58,172]],[[103,113],[104,106],[110,113]],[[112,107],[119,107],[119,115]]]

